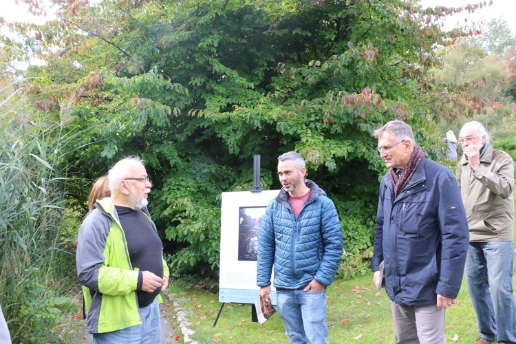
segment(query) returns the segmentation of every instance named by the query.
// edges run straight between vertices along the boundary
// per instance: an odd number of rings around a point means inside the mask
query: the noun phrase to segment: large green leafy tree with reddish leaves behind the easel
[[[252,186],[255,154],[261,184],[279,189],[276,158],[290,150],[338,208],[340,275],[365,272],[385,173],[372,130],[406,120],[440,160],[436,123],[471,109],[460,87],[430,74],[433,45],[461,35],[434,20],[467,9],[401,0],[54,3],[54,21],[17,27],[47,61],[28,69],[34,105],[81,133],[70,178],[95,178],[122,155],[147,161],[151,213],[178,274],[216,275],[220,194]],[[23,52],[8,43],[10,54]],[[87,189],[71,189],[69,201],[80,204]]]

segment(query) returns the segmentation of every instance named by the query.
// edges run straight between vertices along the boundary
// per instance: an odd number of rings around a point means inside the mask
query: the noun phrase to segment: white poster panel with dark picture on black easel
[[[219,302],[253,304],[261,217],[279,190],[222,193],[220,221]],[[272,281],[272,277],[271,277]],[[271,286],[270,299],[276,304]]]

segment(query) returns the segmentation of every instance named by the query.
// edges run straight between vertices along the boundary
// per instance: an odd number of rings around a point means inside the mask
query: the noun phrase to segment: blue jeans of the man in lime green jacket
[[[94,344],[159,344],[161,343],[160,306],[158,301],[140,308],[142,325],[113,332],[96,333]]]

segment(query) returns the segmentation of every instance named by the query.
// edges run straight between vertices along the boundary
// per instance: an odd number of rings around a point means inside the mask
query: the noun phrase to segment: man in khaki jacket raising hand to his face
[[[477,312],[475,343],[516,343],[514,161],[494,149],[480,122],[466,123],[459,141],[464,155],[457,181],[469,224],[466,284]]]

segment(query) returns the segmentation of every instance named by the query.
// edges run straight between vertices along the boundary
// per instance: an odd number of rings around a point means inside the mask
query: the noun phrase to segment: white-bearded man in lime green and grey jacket
[[[137,157],[108,175],[111,197],[96,201],[77,237],[78,280],[91,296],[87,330],[98,344],[160,343],[158,299],[169,268],[147,210],[152,185]]]

